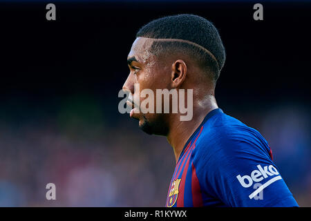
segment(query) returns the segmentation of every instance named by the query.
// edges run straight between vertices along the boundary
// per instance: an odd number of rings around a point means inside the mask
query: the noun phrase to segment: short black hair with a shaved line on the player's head
[[[155,19],[138,30],[136,37],[148,37],[152,39],[180,39],[184,41],[191,41],[193,45],[185,44],[185,42],[162,42],[154,43],[153,50],[160,50],[159,47],[164,46],[182,46],[187,47],[187,52],[200,59],[203,68],[209,66],[209,70],[213,70],[214,79],[218,79],[220,70],[225,64],[225,47],[223,41],[215,26],[207,19],[198,15],[173,15]],[[160,46],[161,45],[161,46]],[[196,47],[196,45],[201,46]],[[207,49],[212,55],[202,50]],[[184,50],[185,52],[185,50]],[[214,55],[214,58],[213,58]],[[215,61],[216,59],[216,61]]]

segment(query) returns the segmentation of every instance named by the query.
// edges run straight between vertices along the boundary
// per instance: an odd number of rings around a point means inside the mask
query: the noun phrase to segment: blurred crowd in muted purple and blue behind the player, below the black
[[[99,106],[68,106],[37,124],[0,122],[0,206],[164,206],[175,166],[165,137],[143,133],[127,115],[105,116]],[[263,134],[294,198],[311,206],[308,110],[227,114]],[[50,182],[56,200],[46,200]]]

